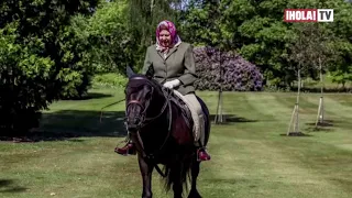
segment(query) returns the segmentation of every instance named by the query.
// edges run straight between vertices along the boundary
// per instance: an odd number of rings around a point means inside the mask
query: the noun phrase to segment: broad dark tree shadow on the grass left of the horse
[[[61,110],[43,113],[40,128],[32,130],[25,139],[18,142],[64,141],[82,136],[124,138],[124,112]],[[11,139],[12,140],[12,139]],[[15,140],[13,140],[16,142]],[[69,140],[81,142],[82,140]]]

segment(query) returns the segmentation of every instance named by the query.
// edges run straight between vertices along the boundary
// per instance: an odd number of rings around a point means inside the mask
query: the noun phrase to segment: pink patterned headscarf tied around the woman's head
[[[165,46],[162,46],[160,44],[158,36],[160,36],[161,31],[163,30],[162,25],[167,28],[167,30],[168,30],[168,32],[169,32],[169,34],[172,36],[172,44],[170,44],[169,47],[165,47]],[[176,45],[179,45],[180,42],[182,42],[180,37],[178,36],[176,26],[175,26],[175,24],[173,22],[164,20],[164,21],[158,23],[158,25],[156,28],[156,50],[157,51],[161,51],[161,52],[165,52],[166,51],[166,52],[168,52],[169,48],[172,48],[172,47],[174,47]]]

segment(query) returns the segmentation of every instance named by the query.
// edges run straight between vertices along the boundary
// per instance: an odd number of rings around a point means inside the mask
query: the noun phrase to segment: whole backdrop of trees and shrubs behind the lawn
[[[287,8],[334,9],[334,21],[285,23]],[[351,1],[4,0],[0,133],[25,133],[52,102],[82,99],[94,85],[123,87],[125,67],[141,70],[164,19],[207,70],[199,90],[290,91],[298,74],[317,85],[321,72],[339,91],[351,91]]]

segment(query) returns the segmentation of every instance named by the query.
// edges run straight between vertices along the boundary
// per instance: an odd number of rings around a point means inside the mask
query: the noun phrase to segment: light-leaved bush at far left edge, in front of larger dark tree
[[[46,87],[54,63],[36,55],[40,40],[16,44],[15,24],[0,30],[0,134],[23,134],[38,125],[40,110],[54,100]]]

